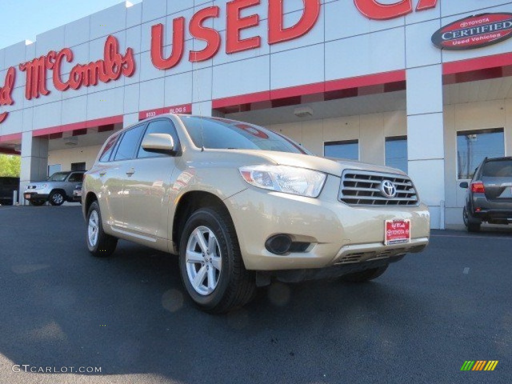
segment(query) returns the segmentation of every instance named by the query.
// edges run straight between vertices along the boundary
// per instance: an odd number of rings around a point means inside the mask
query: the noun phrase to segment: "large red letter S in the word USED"
[[[219,17],[219,7],[208,7],[197,12],[190,20],[188,30],[198,39],[206,41],[206,47],[201,51],[190,51],[188,60],[191,62],[204,61],[213,57],[221,46],[221,35],[213,28],[203,26],[204,20],[210,17]]]

